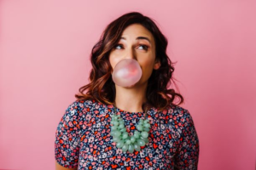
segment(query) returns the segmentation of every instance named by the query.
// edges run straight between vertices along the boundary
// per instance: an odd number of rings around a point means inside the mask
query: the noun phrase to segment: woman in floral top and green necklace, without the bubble
[[[90,83],[57,127],[56,169],[197,169],[192,116],[178,106],[183,96],[167,89],[174,68],[166,47],[166,37],[143,14],[124,14],[107,26],[92,49]],[[112,78],[123,59],[135,59],[142,69],[129,87]]]

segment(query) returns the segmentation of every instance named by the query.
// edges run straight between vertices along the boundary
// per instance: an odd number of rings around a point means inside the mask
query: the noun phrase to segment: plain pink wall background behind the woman
[[[253,170],[256,2],[7,1],[0,3],[0,169],[55,169],[55,129],[88,82],[90,50],[108,23],[156,20],[200,139],[200,170]]]

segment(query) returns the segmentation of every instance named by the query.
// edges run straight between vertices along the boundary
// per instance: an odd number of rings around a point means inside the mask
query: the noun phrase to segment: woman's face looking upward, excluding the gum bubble
[[[143,75],[137,84],[148,82],[153,69],[160,67],[160,62],[155,61],[154,37],[142,25],[126,27],[118,44],[111,50],[109,62],[112,68],[122,59],[136,59],[141,66]]]

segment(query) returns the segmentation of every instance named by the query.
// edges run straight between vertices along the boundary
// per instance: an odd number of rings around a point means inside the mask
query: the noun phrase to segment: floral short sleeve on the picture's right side
[[[177,155],[174,158],[174,169],[196,170],[199,159],[199,139],[189,111],[183,110],[183,116],[183,128]]]

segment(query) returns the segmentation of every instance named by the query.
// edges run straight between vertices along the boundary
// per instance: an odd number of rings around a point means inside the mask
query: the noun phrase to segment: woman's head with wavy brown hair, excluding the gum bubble
[[[138,35],[143,36],[136,40]],[[75,97],[113,104],[113,68],[119,60],[133,58],[137,59],[143,70],[140,81],[148,82],[146,98],[149,105],[161,111],[172,104],[177,96],[181,99],[179,104],[183,103],[181,94],[177,94],[174,89],[167,89],[173,79],[174,67],[166,54],[166,48],[167,39],[152,19],[137,12],[120,16],[106,27],[92,48],[90,83],[79,88],[80,94]]]

